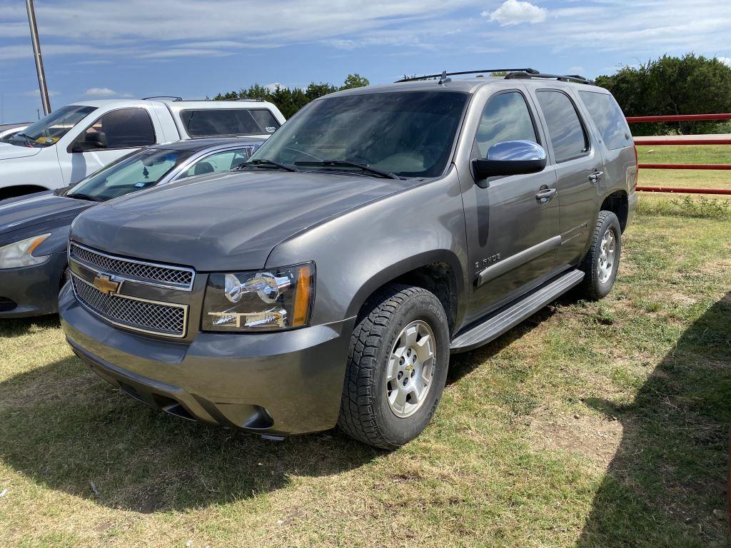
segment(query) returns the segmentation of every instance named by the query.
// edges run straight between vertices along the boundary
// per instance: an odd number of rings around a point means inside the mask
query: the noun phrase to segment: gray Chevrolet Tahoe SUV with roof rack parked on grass
[[[428,425],[450,353],[610,291],[636,179],[624,115],[582,77],[341,91],[237,170],[82,213],[61,320],[154,408],[393,449]]]

